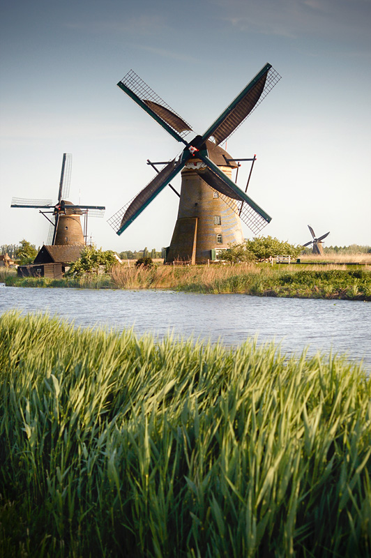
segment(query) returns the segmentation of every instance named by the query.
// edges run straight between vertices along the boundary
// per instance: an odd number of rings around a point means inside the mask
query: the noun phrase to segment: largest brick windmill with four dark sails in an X
[[[231,242],[242,242],[240,219],[258,234],[271,217],[232,181],[236,159],[219,145],[241,126],[278,80],[280,75],[267,63],[206,132],[189,142],[185,140],[192,130],[189,124],[130,70],[117,85],[185,147],[179,158],[164,163],[157,176],[109,219],[116,233],[121,234],[182,172],[178,218],[167,262],[205,262],[213,250],[215,253]]]

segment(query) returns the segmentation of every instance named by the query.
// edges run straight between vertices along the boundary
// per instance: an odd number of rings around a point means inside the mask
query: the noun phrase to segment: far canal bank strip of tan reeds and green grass
[[[314,299],[371,301],[371,270],[346,266],[241,264],[235,266],[115,266],[109,275],[82,279],[3,276],[8,286],[90,289],[172,289],[200,293],[241,293]]]

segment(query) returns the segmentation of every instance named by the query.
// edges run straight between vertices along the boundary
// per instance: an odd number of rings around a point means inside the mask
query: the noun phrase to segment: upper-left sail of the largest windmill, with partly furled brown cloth
[[[171,128],[176,140],[184,142],[183,138],[192,130],[191,126],[169,107],[139,75],[130,70],[117,85],[168,132]]]

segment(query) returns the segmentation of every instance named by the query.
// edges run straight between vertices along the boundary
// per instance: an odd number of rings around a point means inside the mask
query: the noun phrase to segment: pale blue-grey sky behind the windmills
[[[282,79],[227,142],[257,154],[261,234],[371,245],[370,0],[1,0],[0,20],[0,245],[46,242],[47,220],[11,199],[56,202],[72,153],[70,200],[106,206],[89,220],[98,248],[169,246],[170,188],[121,236],[107,224],[152,179],[146,160],[182,149],[117,82],[134,70],[202,134],[266,62]]]

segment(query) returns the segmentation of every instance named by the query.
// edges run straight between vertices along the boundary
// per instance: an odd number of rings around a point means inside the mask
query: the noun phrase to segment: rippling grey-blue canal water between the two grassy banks
[[[202,338],[227,347],[258,336],[283,352],[308,347],[346,354],[371,370],[371,303],[280,299],[245,294],[191,294],[160,290],[92,290],[0,287],[0,314],[10,308],[50,315],[84,327],[108,326],[163,337]]]

